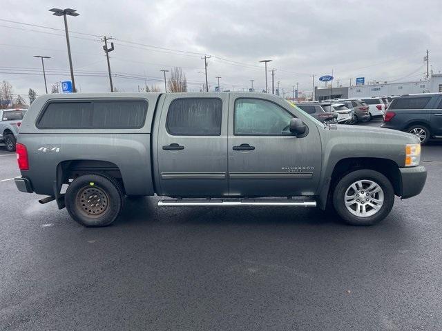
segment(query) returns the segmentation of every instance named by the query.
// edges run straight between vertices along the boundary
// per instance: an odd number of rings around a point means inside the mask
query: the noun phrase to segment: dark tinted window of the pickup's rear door
[[[221,120],[221,99],[175,99],[167,112],[166,129],[174,136],[220,136]]]

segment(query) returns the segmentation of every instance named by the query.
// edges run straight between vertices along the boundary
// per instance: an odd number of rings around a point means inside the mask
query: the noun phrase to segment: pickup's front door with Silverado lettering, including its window
[[[229,107],[229,194],[232,197],[313,195],[320,177],[318,128],[295,137],[290,120],[300,110],[282,99],[232,94]]]

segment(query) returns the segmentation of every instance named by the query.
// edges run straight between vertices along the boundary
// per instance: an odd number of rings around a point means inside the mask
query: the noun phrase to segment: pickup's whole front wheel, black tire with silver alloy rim
[[[333,204],[346,223],[374,225],[385,219],[392,210],[394,189],[380,172],[356,170],[338,181]]]

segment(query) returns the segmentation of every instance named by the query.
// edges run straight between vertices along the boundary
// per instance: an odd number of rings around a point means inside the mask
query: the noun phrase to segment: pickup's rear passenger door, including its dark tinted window
[[[157,130],[160,194],[169,197],[228,194],[229,94],[215,95],[166,94]]]

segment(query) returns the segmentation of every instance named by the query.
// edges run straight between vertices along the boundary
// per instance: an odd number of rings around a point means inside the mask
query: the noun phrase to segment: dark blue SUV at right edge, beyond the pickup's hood
[[[442,139],[442,93],[395,97],[382,127],[414,134],[422,145],[430,139]]]

